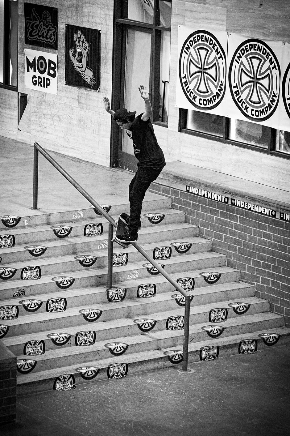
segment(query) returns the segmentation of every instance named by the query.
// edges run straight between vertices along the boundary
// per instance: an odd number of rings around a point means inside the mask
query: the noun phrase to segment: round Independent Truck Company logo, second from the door
[[[239,45],[229,68],[230,92],[240,112],[252,121],[264,121],[277,109],[280,65],[263,41],[248,39]]]

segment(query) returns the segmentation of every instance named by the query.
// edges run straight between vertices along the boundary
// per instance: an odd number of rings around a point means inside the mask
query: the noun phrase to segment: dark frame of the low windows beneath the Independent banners
[[[270,133],[269,133],[269,138],[268,138],[268,148],[263,148],[263,147],[255,146],[252,144],[242,143],[242,142],[238,142],[238,141],[234,141],[234,140],[229,139],[230,138],[230,118],[227,118],[225,116],[223,117],[223,136],[215,136],[215,135],[212,135],[210,133],[203,133],[203,132],[198,132],[197,130],[187,129],[185,127],[186,123],[187,123],[187,110],[190,110],[190,109],[179,108],[178,131],[181,133],[185,133],[187,135],[192,135],[192,136],[199,136],[201,138],[217,141],[217,142],[220,142],[223,144],[230,144],[230,145],[237,146],[240,148],[245,148],[248,150],[257,151],[258,153],[265,153],[268,156],[270,155],[270,156],[275,156],[275,157],[282,157],[284,159],[290,160],[290,154],[283,153],[282,151],[279,151],[279,150],[275,150],[276,134],[278,132],[278,129],[273,129],[273,127],[269,127]],[[194,110],[194,109],[192,109],[192,110]],[[197,111],[197,112],[199,112],[199,111]]]

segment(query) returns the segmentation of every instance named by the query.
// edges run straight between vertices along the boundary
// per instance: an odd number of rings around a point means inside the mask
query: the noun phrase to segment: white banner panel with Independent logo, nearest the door
[[[220,114],[227,75],[227,32],[178,26],[176,106]]]

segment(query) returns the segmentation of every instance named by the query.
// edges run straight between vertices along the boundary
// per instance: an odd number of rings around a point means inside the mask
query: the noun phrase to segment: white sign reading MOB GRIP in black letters
[[[25,48],[24,85],[57,94],[57,54]]]

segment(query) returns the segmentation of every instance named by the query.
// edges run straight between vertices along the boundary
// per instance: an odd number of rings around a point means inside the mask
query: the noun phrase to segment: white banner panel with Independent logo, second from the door
[[[226,116],[281,128],[282,55],[280,41],[229,34]]]

